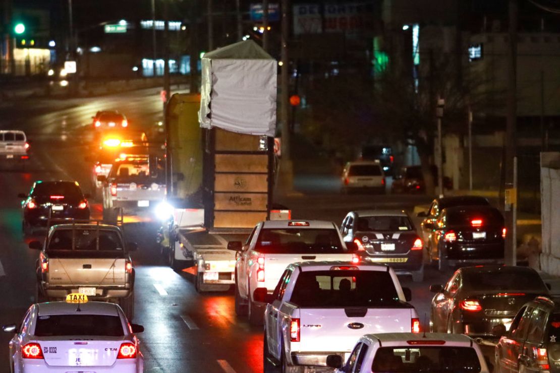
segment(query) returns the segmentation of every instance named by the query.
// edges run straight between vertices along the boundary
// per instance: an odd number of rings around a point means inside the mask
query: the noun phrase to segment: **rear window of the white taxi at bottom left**
[[[35,336],[122,337],[124,330],[118,316],[39,315],[35,326]]]

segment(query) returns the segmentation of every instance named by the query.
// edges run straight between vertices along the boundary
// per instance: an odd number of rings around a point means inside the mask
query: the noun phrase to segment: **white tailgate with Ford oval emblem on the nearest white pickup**
[[[302,308],[300,343],[296,349],[350,352],[363,334],[410,332],[412,310],[392,307]],[[366,314],[362,317],[364,312]]]

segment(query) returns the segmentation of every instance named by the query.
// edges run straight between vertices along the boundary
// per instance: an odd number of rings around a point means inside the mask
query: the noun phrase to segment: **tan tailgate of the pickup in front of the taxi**
[[[124,258],[51,258],[50,284],[124,284]]]

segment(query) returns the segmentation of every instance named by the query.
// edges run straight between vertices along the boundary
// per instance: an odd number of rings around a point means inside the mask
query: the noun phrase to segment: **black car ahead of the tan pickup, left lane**
[[[75,181],[36,181],[29,195],[18,197],[23,210],[22,229],[32,233],[36,226],[46,226],[50,219],[90,219],[90,205]]]

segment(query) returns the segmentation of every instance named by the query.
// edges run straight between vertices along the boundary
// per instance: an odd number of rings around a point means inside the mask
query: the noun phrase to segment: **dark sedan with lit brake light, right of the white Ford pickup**
[[[430,331],[473,335],[492,334],[494,326],[511,323],[527,301],[549,294],[535,270],[514,266],[463,267],[430,291],[436,293]]]

